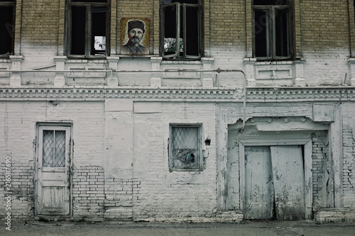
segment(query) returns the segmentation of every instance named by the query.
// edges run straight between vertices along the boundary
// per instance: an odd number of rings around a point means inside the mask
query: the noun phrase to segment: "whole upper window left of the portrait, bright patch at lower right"
[[[109,53],[108,0],[68,0],[67,54],[104,57]]]

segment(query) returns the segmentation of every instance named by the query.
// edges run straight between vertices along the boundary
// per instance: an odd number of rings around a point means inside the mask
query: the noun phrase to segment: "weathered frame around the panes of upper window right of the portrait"
[[[198,0],[197,4],[188,4],[188,3],[180,3],[179,1],[175,1],[173,3],[164,3],[165,0],[161,0],[160,4],[160,55],[163,59],[167,60],[200,60],[203,55],[203,33],[202,33],[202,23],[203,23],[203,11],[202,11],[202,0]],[[166,54],[165,52],[165,9],[167,7],[175,7],[176,10],[176,31],[175,31],[175,44],[176,42],[182,42],[182,46],[177,47],[175,45],[175,53]],[[197,55],[188,55],[187,54],[187,41],[189,38],[187,37],[187,8],[195,8],[197,9],[197,33],[196,38],[193,40],[197,40],[198,48]],[[182,11],[182,12],[181,12]],[[182,19],[181,19],[182,17]],[[181,26],[181,21],[183,26]],[[181,28],[183,32],[181,32]],[[182,38],[180,35],[182,33]],[[181,51],[182,49],[182,51]]]

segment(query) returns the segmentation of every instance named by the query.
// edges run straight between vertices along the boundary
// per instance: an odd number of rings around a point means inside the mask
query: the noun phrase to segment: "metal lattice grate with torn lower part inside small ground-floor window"
[[[173,127],[173,168],[195,169],[199,167],[199,128]]]

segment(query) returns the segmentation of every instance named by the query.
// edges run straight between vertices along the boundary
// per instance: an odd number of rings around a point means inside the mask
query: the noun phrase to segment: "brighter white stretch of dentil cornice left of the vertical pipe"
[[[239,96],[237,95],[239,94]],[[136,99],[159,101],[230,101],[243,98],[242,89],[147,88],[147,87],[63,87],[23,86],[0,88],[0,100],[35,101],[104,101],[105,99]]]

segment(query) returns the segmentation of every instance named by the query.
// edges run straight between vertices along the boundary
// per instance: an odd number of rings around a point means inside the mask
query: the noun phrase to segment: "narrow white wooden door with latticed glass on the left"
[[[70,214],[70,127],[38,128],[38,215]]]

